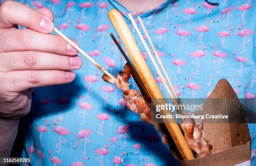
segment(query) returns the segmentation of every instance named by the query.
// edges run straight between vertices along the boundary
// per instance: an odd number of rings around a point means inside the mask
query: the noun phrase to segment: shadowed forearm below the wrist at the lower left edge
[[[0,119],[0,157],[10,157],[18,132],[19,121]]]

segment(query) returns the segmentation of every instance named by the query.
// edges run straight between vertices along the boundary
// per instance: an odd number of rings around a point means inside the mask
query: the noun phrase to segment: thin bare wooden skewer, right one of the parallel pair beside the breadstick
[[[157,53],[157,51],[156,51],[156,48],[155,48],[153,42],[151,41],[150,36],[148,35],[148,31],[146,30],[146,27],[145,27],[144,23],[142,22],[140,16],[138,17],[138,21],[139,21],[139,23],[141,24],[141,27],[142,27],[144,33],[146,34],[146,36],[147,36],[147,38],[148,38],[148,42],[149,42],[149,44],[150,44],[150,46],[151,46],[151,48],[152,48],[154,54],[156,55],[156,59],[157,59],[157,61],[159,62],[160,66],[161,66],[161,69],[162,69],[163,72],[164,72],[164,76],[166,77],[167,82],[168,82],[169,86],[170,86],[171,89],[172,89],[172,93],[174,94],[174,97],[176,98],[178,104],[181,105],[181,102],[180,102],[180,100],[179,100],[179,97],[178,97],[178,95],[177,95],[177,93],[176,93],[176,91],[175,91],[175,89],[174,89],[174,87],[173,87],[173,85],[172,85],[172,82],[171,82],[170,79],[169,79],[168,74],[166,73],[166,70],[165,70],[165,68],[164,68],[164,65],[163,65],[163,63],[162,63],[162,61],[161,61],[161,59],[160,59],[160,57],[159,57],[159,55],[158,55],[158,53]],[[143,38],[143,40],[144,40],[144,38]],[[183,108],[182,108],[182,113],[183,113],[183,115],[186,115],[186,112],[184,111]]]

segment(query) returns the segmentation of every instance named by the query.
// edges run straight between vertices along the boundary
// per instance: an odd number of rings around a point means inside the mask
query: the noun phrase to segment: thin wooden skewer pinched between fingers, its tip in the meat
[[[28,4],[26,4],[30,7]],[[83,56],[85,56],[92,64],[94,64],[97,68],[99,68],[104,74],[106,74],[110,79],[115,80],[115,77],[106,71],[100,64],[98,64],[94,59],[92,59],[89,55],[87,55],[82,49],[80,49],[73,41],[71,41],[67,36],[65,36],[61,31],[54,27],[54,31],[61,36],[65,41],[67,41],[71,46],[73,46],[78,52],[80,52]]]

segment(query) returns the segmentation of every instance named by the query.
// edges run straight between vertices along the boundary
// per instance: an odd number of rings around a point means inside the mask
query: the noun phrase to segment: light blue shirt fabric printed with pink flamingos
[[[115,75],[126,61],[108,35],[112,32],[118,37],[107,14],[118,9],[157,79],[128,19],[129,12],[117,1],[22,2],[35,9],[40,5],[50,8],[55,26],[76,39],[85,52]],[[243,4],[251,8],[241,10]],[[251,0],[167,0],[140,16],[180,98],[205,98],[221,78],[230,82],[239,98],[245,98],[246,92],[256,95],[255,15],[255,2]],[[244,29],[251,33],[239,35]],[[194,55],[193,51],[201,51],[202,55],[197,57],[199,53]],[[217,55],[216,51],[222,52]],[[22,156],[31,157],[31,165],[42,166],[79,162],[88,166],[177,165],[159,132],[128,110],[122,92],[104,82],[100,70],[82,59],[74,82],[34,89],[31,112],[21,121],[25,140]],[[186,86],[188,78],[201,87],[194,94]],[[130,82],[130,88],[136,89],[135,82]],[[163,85],[158,84],[168,98]],[[252,150],[256,148],[254,126],[248,124]]]

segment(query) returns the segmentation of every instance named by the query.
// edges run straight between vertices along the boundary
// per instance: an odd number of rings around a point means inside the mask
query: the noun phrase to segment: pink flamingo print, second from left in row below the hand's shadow
[[[54,120],[54,127],[52,128],[54,130],[55,133],[59,134],[59,142],[56,144],[56,148],[58,148],[59,146],[59,150],[56,151],[57,153],[59,153],[61,151],[61,144],[62,143],[67,143],[67,140],[64,138],[63,135],[70,135],[70,132],[67,128],[63,127],[63,126],[57,126],[59,124],[59,120]],[[62,139],[64,141],[62,141]]]

